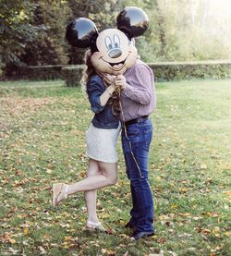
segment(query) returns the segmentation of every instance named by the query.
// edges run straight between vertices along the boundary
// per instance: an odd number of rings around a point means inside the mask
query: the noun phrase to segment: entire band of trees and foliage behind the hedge
[[[150,28],[136,40],[147,62],[231,58],[231,16],[225,0],[0,1],[0,66],[79,64],[85,50],[65,42],[67,23],[91,18],[99,30],[116,27],[124,6],[140,6]],[[214,3],[217,3],[214,5]],[[227,6],[228,7],[228,6]]]

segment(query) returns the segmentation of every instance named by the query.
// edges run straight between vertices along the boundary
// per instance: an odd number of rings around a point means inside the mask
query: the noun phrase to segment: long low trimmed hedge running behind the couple
[[[231,78],[231,60],[163,62],[148,65],[152,68],[156,81]],[[23,79],[64,79],[67,86],[79,86],[84,67],[84,65],[25,67],[20,69],[18,74]]]

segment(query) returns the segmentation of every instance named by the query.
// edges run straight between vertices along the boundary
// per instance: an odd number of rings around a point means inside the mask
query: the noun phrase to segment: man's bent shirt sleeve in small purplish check
[[[134,80],[136,81],[136,86],[128,83],[123,91],[124,95],[137,103],[150,104],[152,101],[152,76],[150,70],[147,67],[136,67]]]

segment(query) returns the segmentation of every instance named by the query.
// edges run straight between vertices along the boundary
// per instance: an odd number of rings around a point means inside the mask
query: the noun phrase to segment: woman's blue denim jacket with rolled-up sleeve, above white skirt
[[[87,85],[91,110],[95,113],[91,122],[96,128],[118,128],[119,119],[113,115],[111,105],[101,105],[100,96],[105,89],[103,79],[98,75],[93,75]]]

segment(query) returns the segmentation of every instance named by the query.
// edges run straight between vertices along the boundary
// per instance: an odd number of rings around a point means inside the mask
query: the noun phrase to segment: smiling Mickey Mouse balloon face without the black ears
[[[98,71],[119,75],[132,67],[137,59],[137,49],[121,30],[103,30],[97,40],[97,52],[91,63]]]

